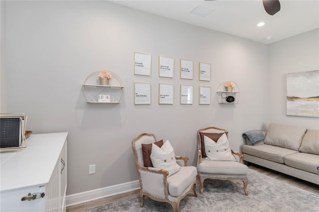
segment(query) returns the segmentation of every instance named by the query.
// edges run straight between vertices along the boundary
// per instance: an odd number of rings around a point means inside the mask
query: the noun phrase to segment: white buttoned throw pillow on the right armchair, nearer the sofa
[[[205,152],[209,160],[236,161],[236,158],[231,153],[229,142],[225,133],[217,140],[217,142],[207,136],[204,136],[204,144]]]

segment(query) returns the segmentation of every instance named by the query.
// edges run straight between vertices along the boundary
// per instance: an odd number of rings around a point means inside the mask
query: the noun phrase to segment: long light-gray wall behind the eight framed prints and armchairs
[[[67,195],[137,180],[131,141],[141,133],[169,139],[176,155],[195,165],[199,128],[226,128],[239,151],[243,132],[275,120],[268,118],[275,108],[268,109],[273,91],[265,44],[107,1],[7,1],[5,20],[7,112],[26,113],[33,133],[69,132]],[[134,52],[152,54],[152,76],[134,75]],[[175,58],[174,78],[158,77],[160,55]],[[197,74],[179,79],[179,59],[193,60],[195,73],[199,61],[210,63],[211,81],[198,81]],[[102,69],[122,78],[121,104],[85,102],[84,80]],[[224,81],[238,84],[239,104],[217,103]],[[151,105],[134,105],[134,82],[152,84]],[[173,105],[158,104],[159,83],[174,85]],[[193,105],[179,104],[180,84],[194,86]],[[211,87],[211,105],[198,105],[198,86]],[[96,164],[94,175],[88,175],[90,164]]]

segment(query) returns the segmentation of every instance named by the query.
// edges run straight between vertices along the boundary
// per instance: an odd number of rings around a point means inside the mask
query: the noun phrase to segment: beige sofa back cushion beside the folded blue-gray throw
[[[307,129],[299,126],[270,123],[265,136],[265,144],[299,150]]]

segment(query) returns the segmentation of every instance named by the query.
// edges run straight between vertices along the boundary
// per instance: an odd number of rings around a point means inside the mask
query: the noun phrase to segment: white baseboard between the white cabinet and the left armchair
[[[66,207],[140,189],[138,180],[66,196]]]

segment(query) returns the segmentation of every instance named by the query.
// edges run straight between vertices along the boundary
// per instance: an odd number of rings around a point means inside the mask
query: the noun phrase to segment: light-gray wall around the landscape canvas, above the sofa
[[[268,122],[319,129],[316,117],[286,116],[287,73],[319,70],[319,29],[269,44],[268,67]]]

